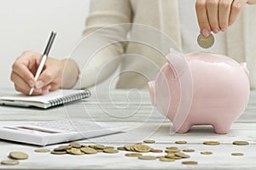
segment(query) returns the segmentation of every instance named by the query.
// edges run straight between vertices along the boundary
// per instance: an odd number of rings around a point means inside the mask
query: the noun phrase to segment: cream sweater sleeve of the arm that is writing
[[[130,0],[91,0],[84,38],[70,55],[79,65],[74,88],[89,88],[110,77],[124,54],[130,30]]]

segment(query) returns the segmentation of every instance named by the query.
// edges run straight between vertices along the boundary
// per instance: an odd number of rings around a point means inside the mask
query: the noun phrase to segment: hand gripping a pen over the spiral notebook
[[[42,55],[32,51],[26,51],[20,55],[12,65],[11,81],[15,83],[15,89],[23,94],[32,95],[47,94],[57,88],[72,88],[79,77],[79,68],[72,59],[54,59],[49,57],[44,65],[38,80],[34,75],[40,64]],[[63,76],[65,74],[68,77]],[[72,72],[72,74],[70,73]]]

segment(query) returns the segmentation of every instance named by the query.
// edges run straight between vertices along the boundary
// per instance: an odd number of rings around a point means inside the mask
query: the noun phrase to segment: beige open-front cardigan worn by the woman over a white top
[[[72,56],[81,71],[76,88],[102,82],[117,68],[116,88],[147,88],[165,63],[169,48],[183,48],[177,5],[178,0],[92,0],[84,40]],[[251,88],[256,88],[253,16],[256,8],[247,6],[229,28],[226,51],[238,62],[247,61]]]

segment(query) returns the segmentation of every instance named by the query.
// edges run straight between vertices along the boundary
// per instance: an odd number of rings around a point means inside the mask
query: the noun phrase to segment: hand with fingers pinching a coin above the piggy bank
[[[241,13],[248,0],[196,0],[195,10],[201,34],[226,31]]]

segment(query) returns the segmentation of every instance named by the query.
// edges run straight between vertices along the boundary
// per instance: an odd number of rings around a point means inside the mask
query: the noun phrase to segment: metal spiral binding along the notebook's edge
[[[76,101],[76,100],[84,99],[84,98],[89,98],[89,97],[90,97],[90,91],[84,90],[84,92],[79,93],[79,94],[70,94],[70,95],[61,97],[59,99],[52,99],[49,101],[49,104],[51,106],[63,105],[68,102],[72,102],[72,101]]]

